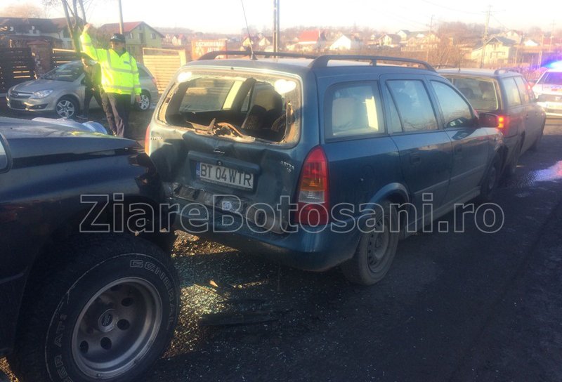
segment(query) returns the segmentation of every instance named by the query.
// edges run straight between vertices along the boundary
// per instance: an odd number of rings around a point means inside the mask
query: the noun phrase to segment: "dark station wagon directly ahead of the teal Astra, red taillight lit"
[[[505,173],[513,175],[521,154],[537,150],[547,119],[525,77],[506,69],[447,69],[439,73],[457,86],[478,112],[495,114],[495,126],[504,134],[508,150]]]

